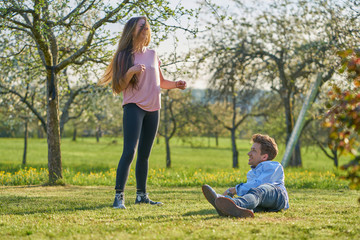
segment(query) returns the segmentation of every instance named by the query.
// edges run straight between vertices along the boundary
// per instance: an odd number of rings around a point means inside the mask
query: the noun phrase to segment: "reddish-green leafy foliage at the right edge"
[[[350,187],[360,189],[360,51],[339,51],[343,66],[339,71],[346,70],[351,89],[340,89],[334,85],[329,91],[330,101],[324,125],[330,128],[332,144],[336,144],[342,153],[350,153],[354,160],[343,166],[348,169],[347,179],[351,180]]]

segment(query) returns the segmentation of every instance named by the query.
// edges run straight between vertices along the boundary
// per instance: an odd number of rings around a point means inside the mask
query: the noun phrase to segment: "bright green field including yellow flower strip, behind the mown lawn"
[[[22,139],[1,139],[0,185],[37,185],[48,180],[47,144],[45,139],[30,139],[27,166],[22,168]],[[174,139],[171,142],[172,167],[165,168],[165,146],[155,143],[150,157],[148,184],[153,186],[215,186],[234,185],[246,180],[249,171],[247,152],[251,144],[238,140],[239,169],[232,168],[229,139],[220,139],[215,147],[214,139],[195,138],[198,147]],[[210,146],[209,146],[210,145]],[[122,140],[82,138],[76,142],[62,141],[64,183],[82,186],[113,186],[116,168],[122,151]],[[277,157],[281,161],[284,147],[280,146]],[[129,175],[128,185],[135,185],[135,162]],[[342,160],[346,162],[346,160]],[[287,168],[286,186],[290,188],[347,188],[348,182],[339,179],[343,171],[334,169],[331,160],[316,148],[303,150],[303,168]]]

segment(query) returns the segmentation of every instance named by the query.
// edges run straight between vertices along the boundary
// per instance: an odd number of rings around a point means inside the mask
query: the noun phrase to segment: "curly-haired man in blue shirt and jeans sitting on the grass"
[[[217,194],[209,185],[202,186],[205,198],[220,216],[254,217],[254,212],[276,212],[289,208],[289,197],[284,185],[284,169],[271,161],[278,148],[267,135],[252,136],[253,145],[248,153],[251,170],[247,182]],[[237,194],[237,198],[233,198]]]

